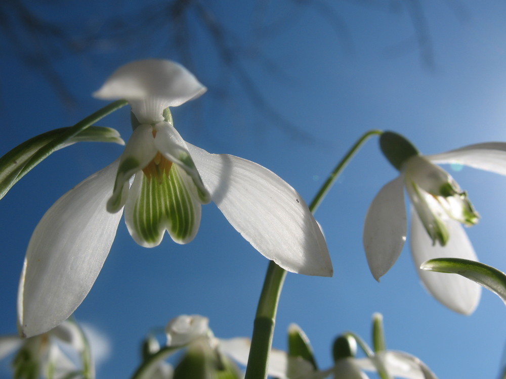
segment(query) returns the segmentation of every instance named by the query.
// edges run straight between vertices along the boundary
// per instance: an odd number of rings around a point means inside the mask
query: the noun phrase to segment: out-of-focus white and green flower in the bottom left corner
[[[62,349],[63,346],[70,347]],[[87,354],[88,343],[71,321],[64,321],[47,333],[22,340],[17,336],[0,337],[0,359],[15,353],[12,367],[14,377],[23,379],[63,379],[95,377],[91,361],[77,364],[77,356]],[[64,352],[65,351],[65,352]],[[75,353],[75,356],[69,353]],[[89,353],[89,352],[88,352]]]

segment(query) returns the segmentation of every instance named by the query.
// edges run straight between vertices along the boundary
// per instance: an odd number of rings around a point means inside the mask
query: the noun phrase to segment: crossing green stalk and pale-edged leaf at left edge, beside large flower
[[[30,138],[0,158],[0,199],[28,171],[57,150],[81,141],[124,144],[116,130],[91,125],[126,104],[125,100],[113,102],[74,126],[51,130]]]

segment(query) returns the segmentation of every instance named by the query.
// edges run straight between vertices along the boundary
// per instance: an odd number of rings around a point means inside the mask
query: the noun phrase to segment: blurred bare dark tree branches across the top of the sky
[[[429,26],[423,4],[419,0],[347,1],[378,11],[407,13],[411,18],[413,39],[418,46],[421,62],[427,67],[434,66]],[[463,14],[457,0],[447,1],[454,13]],[[61,0],[47,2],[62,10],[68,6]],[[123,9],[126,4],[117,4],[114,9]],[[353,50],[352,36],[338,10],[339,4],[329,0],[284,0],[285,12],[276,15],[270,22],[266,21],[266,15],[272,7],[271,0],[252,0],[250,5],[254,12],[250,15],[250,20],[245,20],[244,30],[235,32],[227,28],[227,20],[220,19],[216,3],[204,0],[140,3],[130,13],[116,11],[110,17],[95,15],[93,21],[91,18],[88,21],[88,27],[75,25],[71,20],[50,19],[47,12],[39,11],[38,5],[28,0],[0,2],[0,32],[14,54],[43,75],[66,105],[72,105],[75,99],[56,68],[58,60],[66,55],[126,48],[135,50],[135,59],[140,59],[152,55],[152,51],[161,51],[167,57],[175,58],[176,55],[197,77],[203,78],[205,74],[200,72],[202,67],[197,62],[201,62],[202,57],[210,59],[210,54],[202,54],[197,41],[207,38],[213,47],[215,59],[209,65],[218,67],[225,77],[220,81],[221,87],[215,84],[210,92],[217,99],[226,101],[230,97],[228,85],[237,83],[250,104],[270,120],[273,126],[293,138],[305,141],[312,140],[312,137],[299,126],[293,125],[270,104],[262,88],[252,78],[248,65],[256,65],[273,78],[282,77],[283,69],[266,57],[259,46],[266,39],[294,27],[307,14],[307,10],[316,12],[331,26],[344,51]],[[102,22],[97,22],[100,18]],[[90,31],[91,22],[95,24]],[[412,40],[407,43],[412,44]],[[399,46],[397,50],[398,48]],[[143,51],[145,55],[140,56]],[[0,75],[3,77],[6,73]]]

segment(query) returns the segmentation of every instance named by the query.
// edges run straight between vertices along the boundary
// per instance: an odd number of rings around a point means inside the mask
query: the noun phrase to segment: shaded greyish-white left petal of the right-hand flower
[[[363,245],[372,276],[379,280],[394,265],[406,241],[403,177],[388,182],[372,200],[364,222]]]

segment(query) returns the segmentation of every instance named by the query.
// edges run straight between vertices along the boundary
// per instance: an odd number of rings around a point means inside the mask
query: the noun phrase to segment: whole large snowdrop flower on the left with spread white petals
[[[128,100],[135,129],[119,160],[63,195],[35,228],[18,293],[18,323],[25,336],[55,327],[86,297],[109,253],[123,205],[126,225],[142,246],[158,245],[165,230],[178,243],[191,241],[200,205],[211,200],[253,247],[282,268],[332,275],[321,230],[290,185],[256,163],[187,144],[173,127],[167,107],[204,91],[184,67],[146,60],[120,67],[95,92],[101,99]]]

